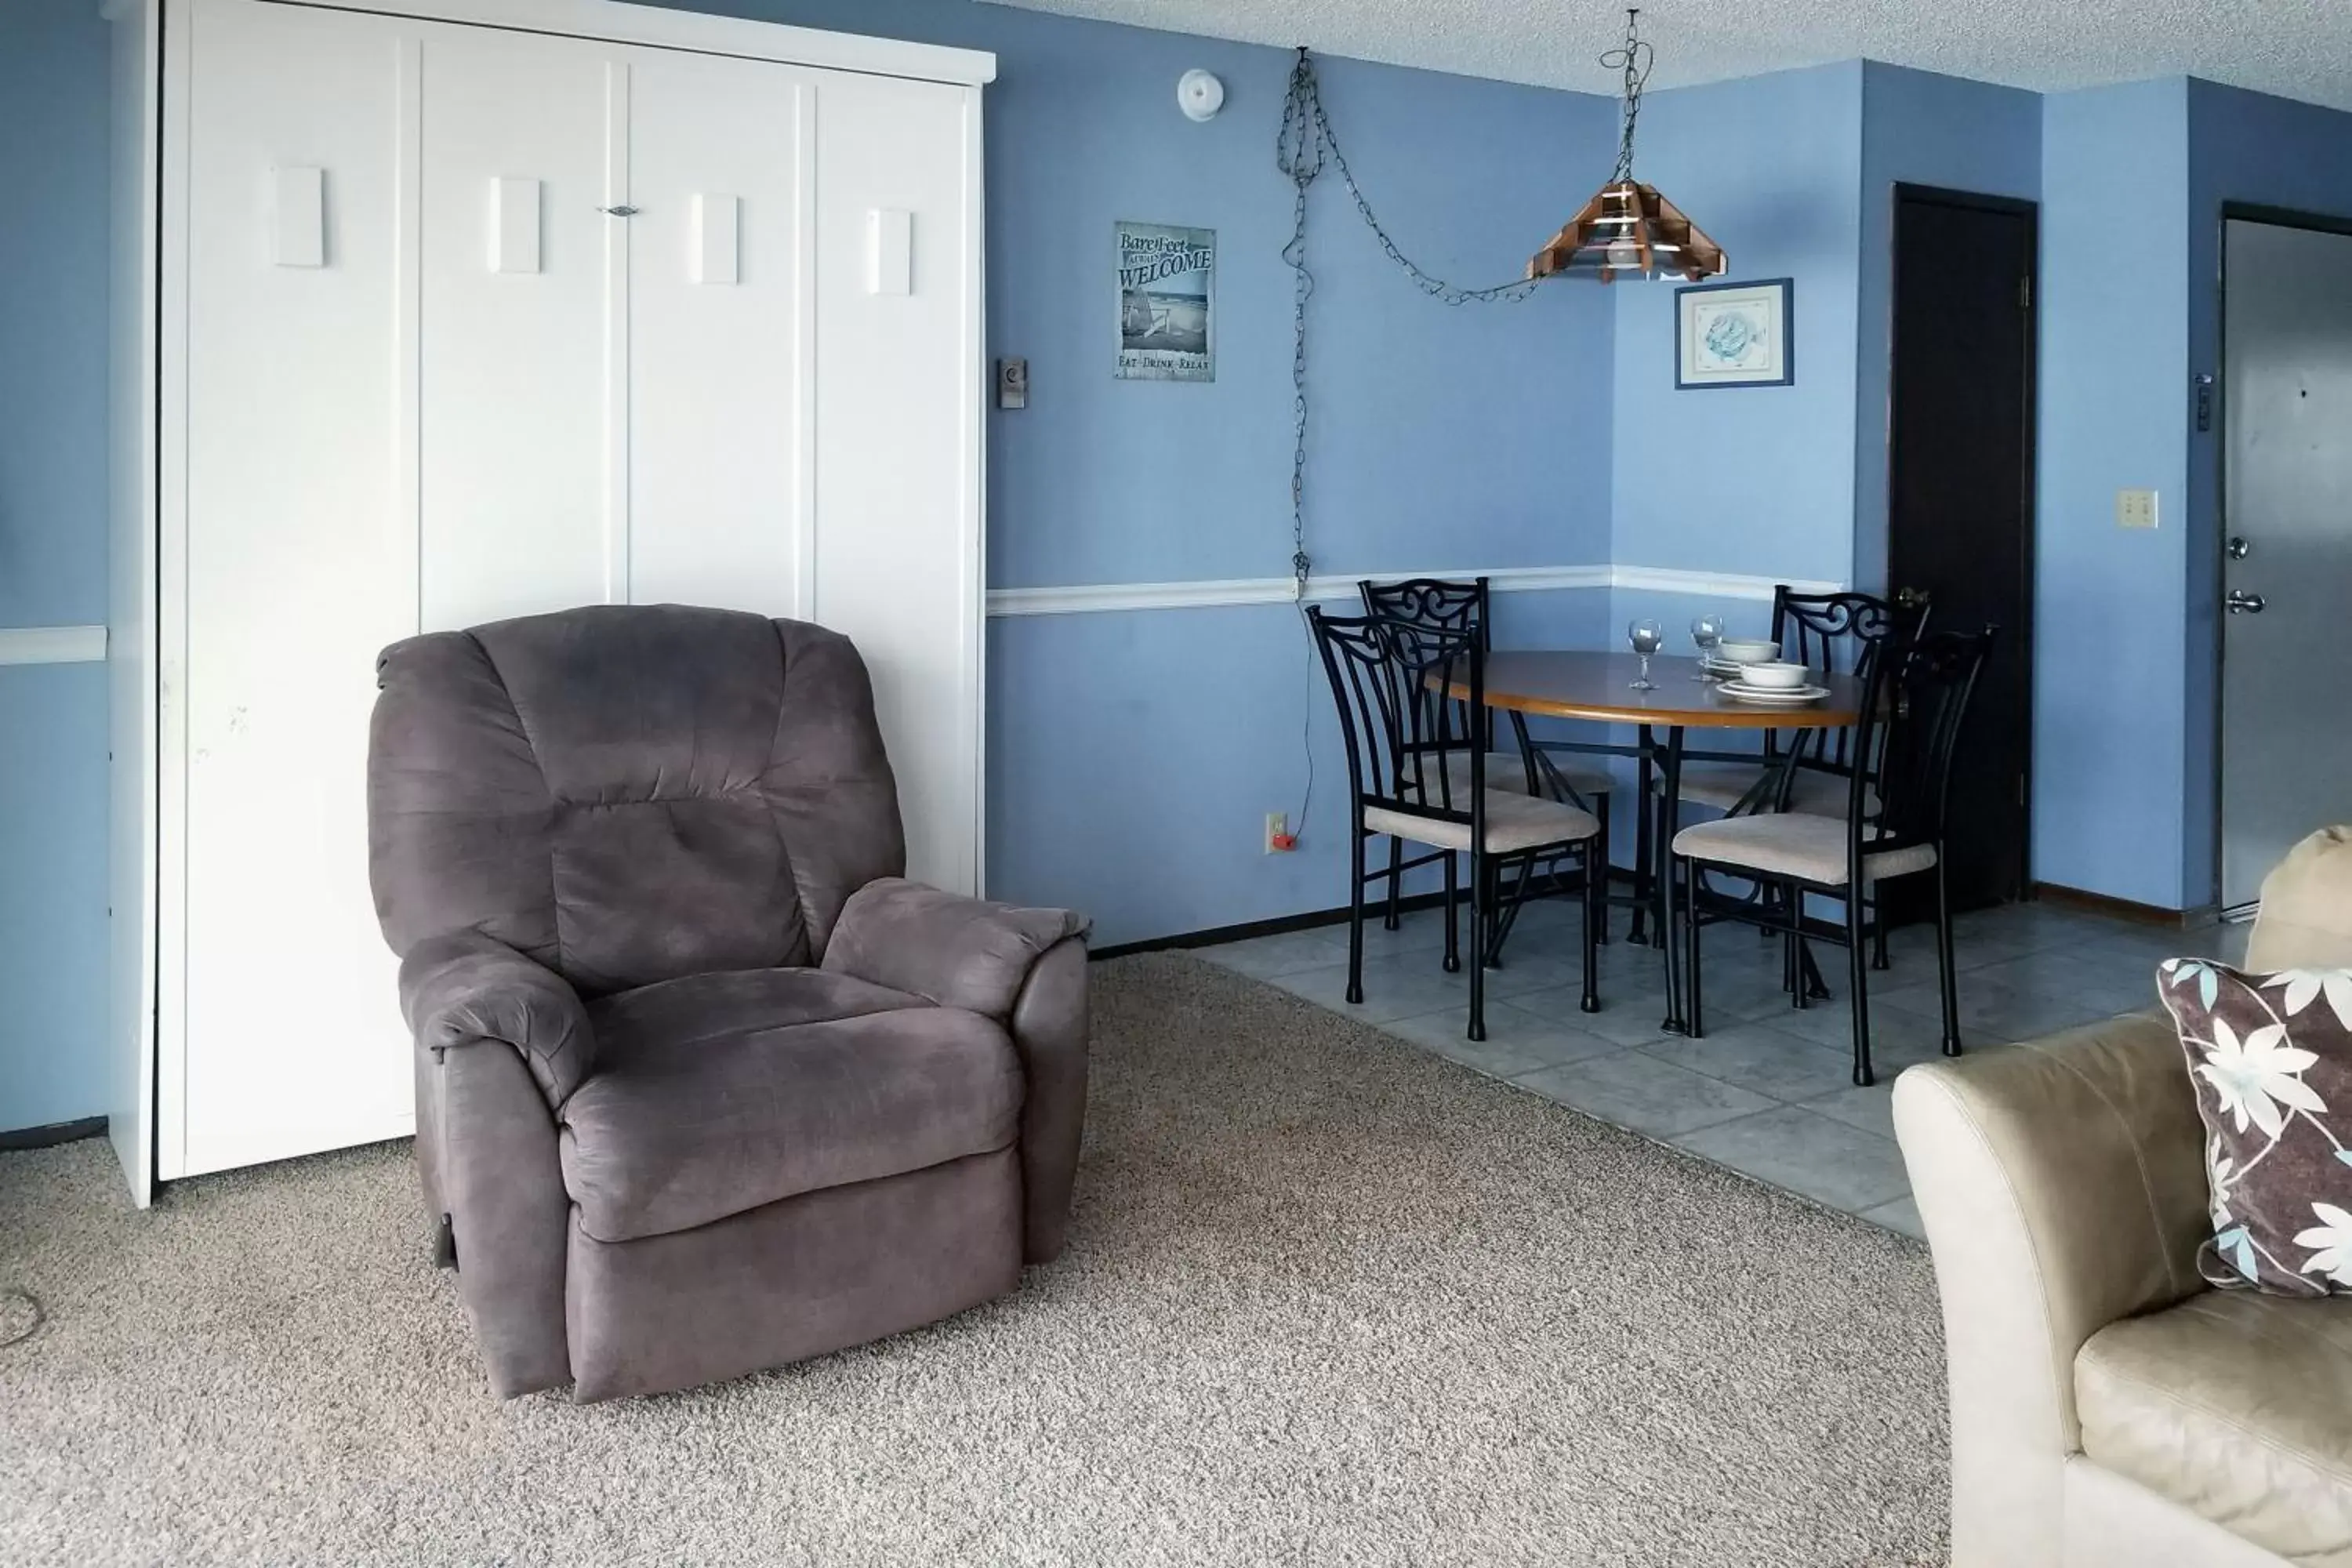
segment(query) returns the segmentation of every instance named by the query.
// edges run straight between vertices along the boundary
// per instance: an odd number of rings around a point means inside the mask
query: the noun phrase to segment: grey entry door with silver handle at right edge
[[[2352,235],[2230,221],[2223,254],[2225,907],[2352,820]]]

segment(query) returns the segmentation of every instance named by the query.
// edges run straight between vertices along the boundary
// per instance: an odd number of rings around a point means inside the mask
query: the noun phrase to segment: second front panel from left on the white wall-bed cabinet
[[[574,38],[419,26],[421,569],[426,630],[626,597],[626,515],[607,496],[623,433],[607,378],[607,66]],[[626,71],[626,66],[619,66]],[[492,268],[499,181],[536,181],[534,268]],[[501,252],[503,254],[503,252]]]

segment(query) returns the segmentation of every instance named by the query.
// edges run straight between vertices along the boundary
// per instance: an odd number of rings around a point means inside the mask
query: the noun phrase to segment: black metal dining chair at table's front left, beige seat
[[[1505,907],[1526,898],[1538,860],[1583,858],[1583,1011],[1599,1011],[1599,929],[1595,875],[1606,849],[1599,818],[1581,806],[1498,790],[1486,783],[1479,719],[1486,712],[1486,649],[1472,628],[1435,628],[1385,616],[1327,616],[1308,607],[1308,625],[1331,679],[1341,738],[1348,748],[1348,1001],[1364,1001],[1364,893],[1442,863],[1446,884],[1446,969],[1461,969],[1458,858],[1470,870],[1470,952],[1491,950]],[[1456,755],[1465,755],[1456,764]],[[1388,870],[1367,870],[1367,846],[1388,837]],[[1402,856],[1425,844],[1430,853]],[[1505,891],[1505,877],[1512,877]],[[1486,1039],[1486,966],[1470,964],[1470,1039]]]

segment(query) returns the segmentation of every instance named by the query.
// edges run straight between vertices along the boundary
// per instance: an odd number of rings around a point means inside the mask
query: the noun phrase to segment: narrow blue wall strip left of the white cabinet
[[[0,7],[0,625],[106,621],[106,24]],[[106,677],[0,668],[0,1128],[96,1114]]]

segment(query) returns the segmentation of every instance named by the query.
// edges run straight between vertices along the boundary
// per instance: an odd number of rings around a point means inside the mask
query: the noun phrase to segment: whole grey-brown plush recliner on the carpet
[[[386,649],[369,872],[499,1396],[915,1328],[1061,1251],[1084,922],[901,879],[856,649],[593,607]]]

